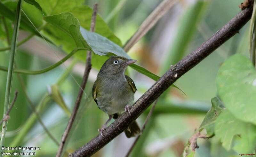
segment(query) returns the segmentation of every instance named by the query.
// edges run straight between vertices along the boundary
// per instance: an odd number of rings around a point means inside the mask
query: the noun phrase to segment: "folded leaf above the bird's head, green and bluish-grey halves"
[[[106,37],[103,37],[97,33],[92,33],[84,28],[80,27],[77,18],[75,18],[71,13],[61,13],[57,15],[44,17],[44,20],[51,23],[56,28],[48,29],[51,33],[53,41],[57,44],[63,44],[63,49],[68,51],[75,47],[85,47],[88,50],[91,50],[95,54],[92,55],[92,66],[100,68],[103,63],[108,59],[108,57],[100,57],[101,55],[108,55],[109,52],[118,55],[130,58],[123,49],[112,41],[108,40]],[[96,21],[97,23],[97,21]],[[82,30],[83,36],[81,34],[80,28]],[[58,31],[58,33],[56,33]],[[65,32],[65,34],[63,33]],[[61,35],[61,36],[58,36]],[[54,37],[53,37],[54,36]],[[59,39],[65,39],[59,40]],[[77,52],[76,55],[78,58],[85,60],[86,53]]]

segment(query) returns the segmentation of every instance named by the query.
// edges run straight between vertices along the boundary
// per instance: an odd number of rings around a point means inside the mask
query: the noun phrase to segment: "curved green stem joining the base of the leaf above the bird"
[[[65,56],[63,59],[58,61],[57,63],[55,63],[49,67],[46,67],[42,70],[30,71],[30,70],[25,70],[25,69],[15,69],[14,72],[21,73],[21,74],[28,74],[28,75],[37,75],[37,74],[42,74],[42,73],[48,72],[48,71],[54,69],[55,67],[60,66],[63,62],[68,60],[73,54],[75,54],[79,50],[87,50],[87,49],[86,48],[76,48],[73,51],[71,51],[67,56]],[[0,70],[7,71],[8,69],[6,67],[0,66]]]

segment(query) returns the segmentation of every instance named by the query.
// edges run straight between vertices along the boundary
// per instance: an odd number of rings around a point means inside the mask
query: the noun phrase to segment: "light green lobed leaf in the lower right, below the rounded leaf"
[[[224,110],[215,123],[215,136],[222,146],[237,153],[252,153],[256,144],[256,126],[238,120],[228,109]],[[236,143],[233,138],[236,137]]]

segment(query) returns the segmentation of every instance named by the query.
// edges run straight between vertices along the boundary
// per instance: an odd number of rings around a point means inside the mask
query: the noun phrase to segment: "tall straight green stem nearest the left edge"
[[[16,19],[14,21],[14,30],[12,35],[12,44],[11,44],[11,52],[10,52],[10,61],[7,73],[7,81],[6,81],[6,90],[5,90],[5,99],[4,99],[4,114],[8,111],[10,105],[10,95],[12,89],[12,76],[14,71],[14,62],[15,56],[17,51],[17,41],[19,35],[19,28],[20,28],[20,16],[21,16],[21,8],[22,8],[22,0],[18,1],[17,4],[17,11],[16,11]],[[2,125],[2,133],[1,133],[1,141],[0,147],[4,146],[4,139],[5,139],[5,132],[7,130],[7,121],[3,122]],[[1,150],[2,152],[2,150]],[[0,154],[2,156],[2,153]]]

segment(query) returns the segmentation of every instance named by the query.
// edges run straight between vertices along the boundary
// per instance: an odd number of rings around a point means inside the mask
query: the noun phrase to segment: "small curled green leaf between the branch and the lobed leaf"
[[[199,131],[205,129],[208,136],[214,134],[215,121],[220,113],[224,110],[224,106],[219,98],[212,98],[211,102],[212,107],[205,115],[204,120],[199,127]]]

